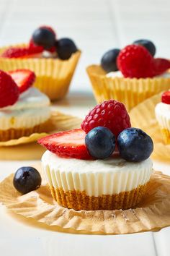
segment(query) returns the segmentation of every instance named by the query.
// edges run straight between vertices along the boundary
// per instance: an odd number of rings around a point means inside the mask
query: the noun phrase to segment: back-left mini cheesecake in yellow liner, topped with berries
[[[51,27],[42,26],[32,34],[30,43],[0,48],[0,69],[32,70],[37,76],[35,87],[58,100],[68,92],[80,55],[73,40],[58,40]]]

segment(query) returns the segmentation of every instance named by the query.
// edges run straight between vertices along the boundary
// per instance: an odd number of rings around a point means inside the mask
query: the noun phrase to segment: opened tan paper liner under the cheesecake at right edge
[[[133,127],[143,129],[153,139],[154,150],[151,155],[152,158],[170,161],[170,144],[165,144],[155,116],[155,106],[161,102],[161,94],[154,95],[133,108],[130,111],[130,119]]]

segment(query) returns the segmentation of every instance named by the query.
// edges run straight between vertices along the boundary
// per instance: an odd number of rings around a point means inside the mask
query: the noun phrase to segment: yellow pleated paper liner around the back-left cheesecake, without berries
[[[23,47],[26,44],[14,45]],[[1,47],[0,55],[10,46]],[[48,95],[50,100],[63,98],[81,56],[81,51],[72,54],[68,60],[53,58],[3,58],[0,57],[0,69],[4,71],[15,69],[30,69],[35,72],[35,87]]]

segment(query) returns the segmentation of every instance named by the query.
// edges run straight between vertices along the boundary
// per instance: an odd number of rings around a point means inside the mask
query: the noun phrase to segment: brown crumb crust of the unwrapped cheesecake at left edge
[[[19,137],[24,137],[24,136],[30,136],[32,133],[40,133],[40,132],[47,132],[48,131],[48,126],[49,126],[49,120],[45,121],[42,124],[37,124],[35,127],[30,127],[30,128],[19,128],[19,129],[6,129],[6,130],[1,130],[0,129],[0,141],[5,142],[8,140],[15,140],[19,139]]]

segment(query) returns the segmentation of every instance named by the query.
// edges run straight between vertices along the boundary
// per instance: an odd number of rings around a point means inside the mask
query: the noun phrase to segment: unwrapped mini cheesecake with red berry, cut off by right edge
[[[166,144],[170,144],[170,90],[161,96],[161,102],[155,108],[156,119]]]

